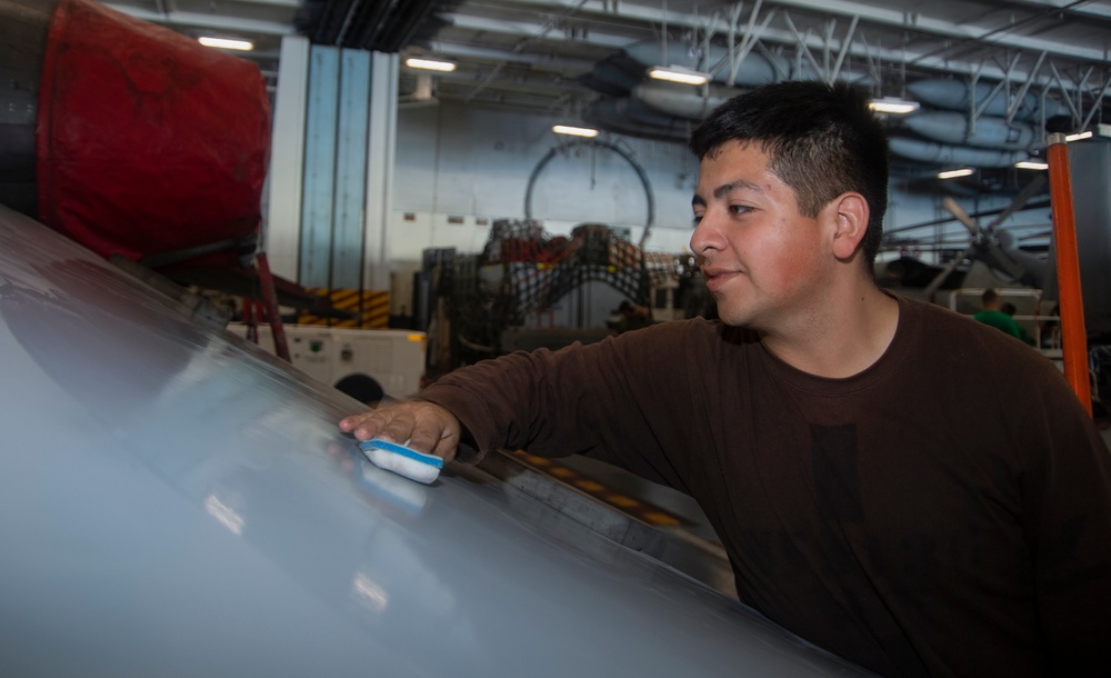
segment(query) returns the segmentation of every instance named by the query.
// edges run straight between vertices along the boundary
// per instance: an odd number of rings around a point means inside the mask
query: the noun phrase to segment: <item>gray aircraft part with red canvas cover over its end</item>
[[[0,0],[0,203],[141,277],[257,298],[271,322],[279,303],[331,315],[259,247],[258,66],[92,0]]]

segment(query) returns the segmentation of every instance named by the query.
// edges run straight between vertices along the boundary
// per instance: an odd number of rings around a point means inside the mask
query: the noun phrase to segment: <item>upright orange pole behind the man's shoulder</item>
[[[1064,134],[1045,138],[1049,160],[1049,192],[1053,210],[1053,247],[1057,249],[1057,287],[1061,305],[1061,348],[1064,377],[1081,405],[1092,413],[1092,390],[1088,378],[1088,330],[1084,299],[1080,289],[1080,257],[1077,253],[1077,221],[1072,210],[1072,177]]]

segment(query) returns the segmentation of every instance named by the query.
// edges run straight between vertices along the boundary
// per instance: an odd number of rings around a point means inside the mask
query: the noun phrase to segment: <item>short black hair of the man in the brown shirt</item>
[[[733,140],[760,144],[808,217],[847,191],[862,195],[870,217],[861,249],[872,275],[888,209],[888,136],[864,90],[817,80],[759,87],[710,113],[690,149],[702,160]]]

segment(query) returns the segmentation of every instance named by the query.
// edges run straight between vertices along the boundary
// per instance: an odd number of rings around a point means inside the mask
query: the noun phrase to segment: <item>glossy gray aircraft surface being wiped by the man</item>
[[[0,674],[864,676],[0,208]]]

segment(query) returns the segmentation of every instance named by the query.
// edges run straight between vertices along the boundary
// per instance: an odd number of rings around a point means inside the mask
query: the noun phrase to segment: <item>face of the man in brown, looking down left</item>
[[[724,322],[774,331],[812,317],[834,258],[827,210],[817,219],[800,213],[769,160],[741,141],[702,160],[691,250]]]

